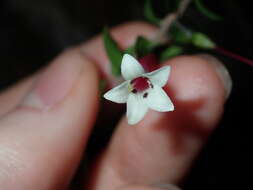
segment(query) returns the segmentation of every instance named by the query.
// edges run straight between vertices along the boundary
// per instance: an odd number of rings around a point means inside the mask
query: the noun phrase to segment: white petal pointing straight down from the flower
[[[127,99],[127,119],[128,124],[138,123],[147,113],[148,107],[141,95],[130,93]]]

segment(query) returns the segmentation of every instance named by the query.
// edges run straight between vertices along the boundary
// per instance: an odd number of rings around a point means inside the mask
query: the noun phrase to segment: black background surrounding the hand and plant
[[[156,0],[160,15],[164,0]],[[213,22],[191,7],[182,19],[220,46],[253,59],[252,6],[243,0],[203,0],[224,17]],[[45,66],[63,49],[99,33],[103,26],[143,20],[137,0],[1,0],[0,89]],[[200,153],[184,189],[253,189],[252,66],[214,53],[229,69],[233,91],[220,126]]]

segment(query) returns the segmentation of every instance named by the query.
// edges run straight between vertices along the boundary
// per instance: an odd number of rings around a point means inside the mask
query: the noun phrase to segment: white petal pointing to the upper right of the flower
[[[169,79],[169,75],[170,75],[170,66],[164,66],[153,72],[146,73],[143,76],[148,77],[153,84],[163,87],[166,85]]]

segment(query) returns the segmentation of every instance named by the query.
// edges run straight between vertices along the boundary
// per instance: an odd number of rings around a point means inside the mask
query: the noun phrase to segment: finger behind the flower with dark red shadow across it
[[[177,183],[215,129],[225,102],[216,68],[197,56],[180,56],[164,65],[171,66],[165,90],[175,110],[149,111],[133,128],[124,117],[101,162],[101,168],[114,173],[101,173],[103,180]]]

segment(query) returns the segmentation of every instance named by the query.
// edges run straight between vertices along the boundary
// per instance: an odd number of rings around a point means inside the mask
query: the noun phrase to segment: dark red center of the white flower
[[[137,77],[133,79],[130,82],[130,84],[133,87],[133,90],[132,90],[133,93],[143,92],[147,90],[149,87],[153,86],[147,77]]]

